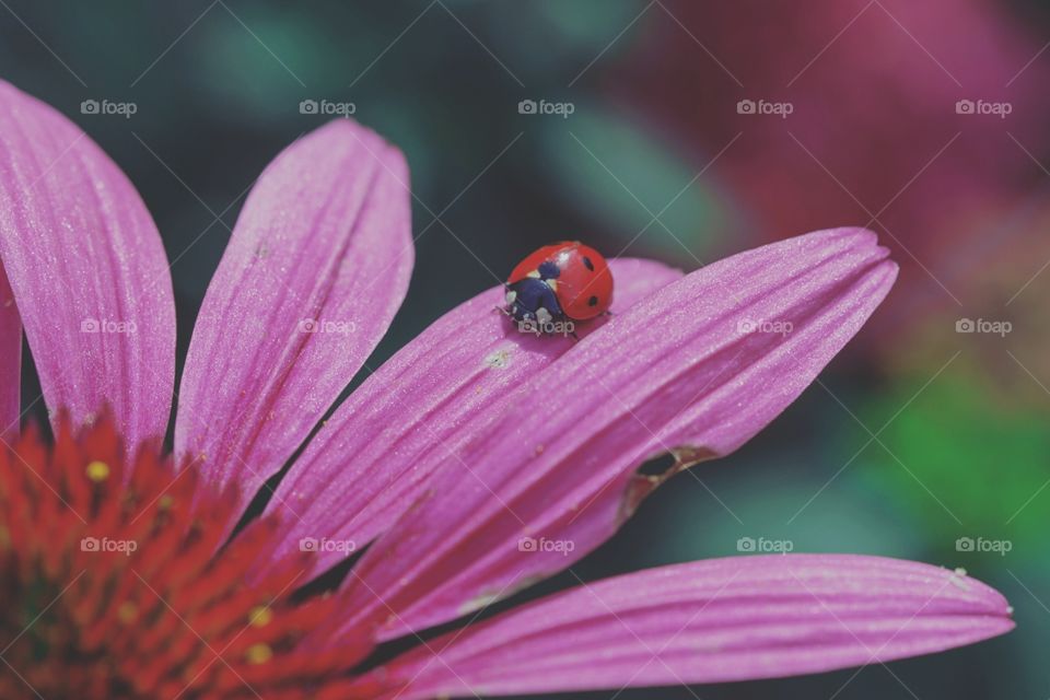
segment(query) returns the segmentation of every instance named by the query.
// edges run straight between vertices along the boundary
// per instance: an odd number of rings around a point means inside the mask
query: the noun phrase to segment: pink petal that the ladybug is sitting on
[[[614,313],[681,278],[651,260],[609,264],[617,281]],[[388,529],[434,467],[487,417],[506,410],[514,387],[573,347],[571,338],[517,332],[495,311],[502,299],[502,288],[490,289],[445,314],[325,421],[270,501],[271,511],[291,508],[300,516],[285,518],[281,551],[306,537],[363,547]],[[581,326],[580,335],[606,320]],[[318,549],[315,565],[324,569],[347,548]]]

